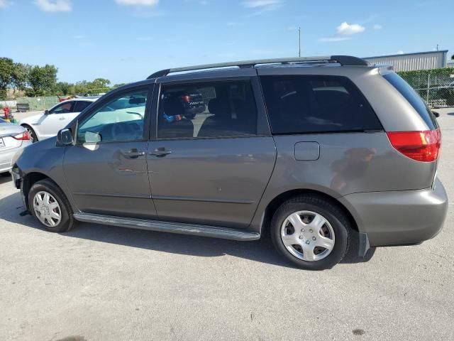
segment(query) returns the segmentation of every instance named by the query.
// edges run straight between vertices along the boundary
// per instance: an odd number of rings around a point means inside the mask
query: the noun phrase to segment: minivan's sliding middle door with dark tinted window
[[[248,226],[276,157],[255,80],[161,85],[157,136],[148,149],[160,219]],[[204,103],[193,119],[188,94]]]

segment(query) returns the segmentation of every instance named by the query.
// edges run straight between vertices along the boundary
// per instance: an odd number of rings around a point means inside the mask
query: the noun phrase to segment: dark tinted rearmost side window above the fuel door
[[[273,134],[382,130],[358,88],[341,76],[262,76]]]

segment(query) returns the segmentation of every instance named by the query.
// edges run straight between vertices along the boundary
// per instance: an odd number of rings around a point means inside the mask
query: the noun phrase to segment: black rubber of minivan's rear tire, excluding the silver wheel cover
[[[297,258],[287,250],[281,237],[284,221],[294,212],[311,211],[322,215],[333,228],[335,243],[331,253],[323,259],[305,261]],[[284,202],[275,212],[270,225],[270,234],[277,251],[295,266],[306,270],[331,269],[342,261],[350,247],[350,234],[353,231],[348,217],[333,202],[319,195],[299,195]]]

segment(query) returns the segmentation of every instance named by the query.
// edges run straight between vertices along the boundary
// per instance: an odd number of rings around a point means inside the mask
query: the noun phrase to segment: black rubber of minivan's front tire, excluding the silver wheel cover
[[[58,205],[60,205],[61,220],[54,227],[49,227],[43,224],[43,222],[39,220],[35,210],[33,209],[33,199],[36,193],[41,191],[50,193],[53,197],[55,197]],[[30,192],[28,192],[28,207],[30,207],[30,211],[33,217],[35,217],[38,222],[40,222],[40,224],[42,224],[43,227],[45,227],[45,229],[50,232],[67,232],[72,229],[72,227],[74,227],[75,222],[74,218],[72,217],[72,208],[70,202],[67,200],[65,193],[63,193],[62,190],[50,179],[40,180],[33,186],[31,186]]]

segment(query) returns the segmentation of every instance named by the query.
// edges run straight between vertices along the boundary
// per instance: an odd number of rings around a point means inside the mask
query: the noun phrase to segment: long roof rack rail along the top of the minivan
[[[204,70],[204,69],[215,69],[218,67],[240,67],[248,68],[255,67],[255,65],[262,64],[291,64],[291,63],[338,63],[343,66],[367,66],[367,61],[358,58],[352,57],[350,55],[325,55],[321,57],[296,57],[296,58],[277,58],[277,59],[258,59],[258,60],[243,60],[239,62],[229,62],[229,63],[216,63],[216,64],[205,64],[205,65],[194,65],[186,67],[175,67],[172,69],[160,70],[147,79],[156,77],[164,77],[172,72],[184,72],[184,71],[194,71],[194,70]]]

